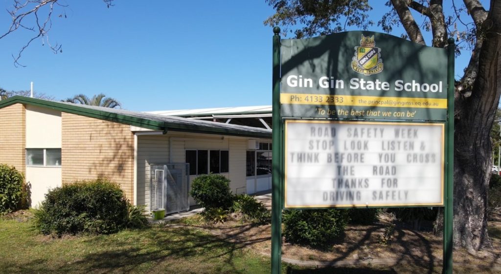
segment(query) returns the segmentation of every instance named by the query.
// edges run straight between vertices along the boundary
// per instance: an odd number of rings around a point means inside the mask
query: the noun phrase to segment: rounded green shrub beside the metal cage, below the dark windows
[[[204,174],[193,179],[189,194],[201,206],[208,208],[231,206],[229,179],[220,174]]]

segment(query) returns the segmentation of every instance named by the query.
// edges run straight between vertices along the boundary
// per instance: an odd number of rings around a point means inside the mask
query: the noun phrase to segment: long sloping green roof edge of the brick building
[[[224,123],[198,121],[182,117],[162,116],[158,114],[148,114],[143,112],[99,106],[80,105],[68,102],[57,102],[25,96],[13,96],[6,100],[2,100],[0,101],[0,108],[15,103],[36,105],[72,114],[129,124],[152,130],[162,130],[164,132],[167,132],[167,130],[172,130],[182,132],[263,138],[271,138],[272,135],[271,130],[267,131],[261,128],[254,128],[249,126],[235,126]]]

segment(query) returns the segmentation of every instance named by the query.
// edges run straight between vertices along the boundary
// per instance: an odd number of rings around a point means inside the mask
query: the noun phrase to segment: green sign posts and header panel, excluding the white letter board
[[[281,273],[288,118],[443,122],[443,273],[451,274],[454,39],[441,49],[371,31],[284,40],[273,31],[272,274]]]

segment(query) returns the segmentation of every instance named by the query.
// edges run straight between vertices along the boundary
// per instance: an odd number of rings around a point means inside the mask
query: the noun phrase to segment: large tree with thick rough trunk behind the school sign
[[[297,38],[367,28],[375,23],[364,12],[368,0],[266,0],[276,13],[265,24],[284,27]],[[474,252],[491,245],[487,233],[487,189],[492,164],[490,129],[501,94],[501,1],[486,10],[479,0],[389,0],[389,11],[377,22],[385,32],[402,25],[411,41],[444,47],[448,37],[472,54],[464,75],[455,82],[454,244]],[[451,12],[447,15],[444,10]],[[418,23],[417,14],[422,22]],[[465,18],[469,16],[470,18]],[[467,20],[468,19],[468,20]],[[300,25],[300,26],[298,26]],[[290,28],[295,28],[293,32]],[[456,51],[459,54],[459,51]]]

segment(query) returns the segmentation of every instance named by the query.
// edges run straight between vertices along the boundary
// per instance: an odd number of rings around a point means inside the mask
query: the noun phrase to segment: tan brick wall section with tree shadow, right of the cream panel
[[[62,112],[63,184],[107,177],[133,201],[134,134],[130,125]]]

